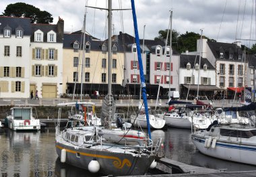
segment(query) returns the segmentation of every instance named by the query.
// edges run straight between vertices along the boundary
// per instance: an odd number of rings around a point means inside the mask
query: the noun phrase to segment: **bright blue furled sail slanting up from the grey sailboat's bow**
[[[141,93],[142,93],[142,98],[143,98],[143,102],[144,102],[144,105],[145,105],[145,112],[146,112],[146,118],[147,118],[147,127],[148,127],[148,136],[151,139],[150,117],[148,115],[148,100],[147,100],[147,95],[146,95],[146,84],[145,84],[145,78],[144,78],[144,72],[143,72],[143,63],[142,63],[142,59],[141,59],[141,51],[140,51],[140,45],[139,45],[139,33],[138,33],[138,29],[137,29],[137,17],[136,17],[136,12],[135,12],[134,0],[131,0],[131,9],[132,9],[132,12],[133,12],[133,26],[134,26],[134,30],[135,30],[135,42],[136,42],[136,47],[137,47],[137,57],[138,57],[138,61],[139,61],[139,75],[140,75],[140,80],[141,80]]]

